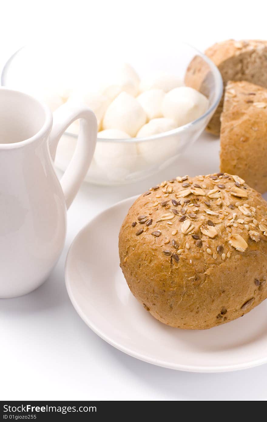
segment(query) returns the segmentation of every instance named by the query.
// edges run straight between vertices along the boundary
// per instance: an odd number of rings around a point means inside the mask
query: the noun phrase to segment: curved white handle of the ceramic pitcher
[[[60,180],[67,209],[75,198],[92,161],[97,141],[97,119],[88,107],[65,103],[53,113],[53,126],[49,138],[50,154],[54,161],[59,139],[76,119],[81,119],[77,146]]]

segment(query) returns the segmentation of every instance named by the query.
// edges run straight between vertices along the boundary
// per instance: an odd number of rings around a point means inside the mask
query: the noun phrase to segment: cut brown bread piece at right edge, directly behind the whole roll
[[[221,114],[221,172],[267,191],[267,89],[229,81]]]

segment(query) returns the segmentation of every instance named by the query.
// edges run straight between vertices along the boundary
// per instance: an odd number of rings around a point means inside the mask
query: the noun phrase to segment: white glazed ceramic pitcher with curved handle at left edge
[[[67,127],[81,119],[76,151],[57,179],[53,162]],[[97,120],[84,106],[49,108],[22,92],[0,88],[0,298],[31,292],[62,252],[66,210],[87,173]]]

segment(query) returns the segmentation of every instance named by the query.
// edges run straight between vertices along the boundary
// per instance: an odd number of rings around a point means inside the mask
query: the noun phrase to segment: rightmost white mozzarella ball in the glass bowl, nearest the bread
[[[165,117],[173,119],[176,126],[193,122],[208,110],[208,99],[190,87],[179,87],[168,92],[162,103]]]

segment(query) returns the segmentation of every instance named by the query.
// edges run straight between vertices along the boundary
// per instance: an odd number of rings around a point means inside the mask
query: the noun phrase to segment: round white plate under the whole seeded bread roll
[[[103,211],[70,247],[66,286],[84,322],[122,352],[166,368],[223,372],[267,362],[267,300],[228,324],[180,330],[154,319],[132,296],[119,267],[118,235],[134,200]]]

